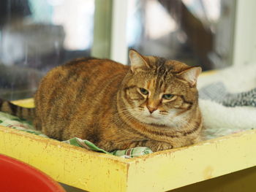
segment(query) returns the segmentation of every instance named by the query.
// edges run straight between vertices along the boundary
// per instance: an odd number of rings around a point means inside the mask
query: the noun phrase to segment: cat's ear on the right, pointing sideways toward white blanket
[[[189,82],[189,85],[192,87],[196,85],[197,77],[201,72],[202,68],[200,66],[193,66],[189,69],[184,70],[183,72],[180,72],[178,74],[178,77]]]

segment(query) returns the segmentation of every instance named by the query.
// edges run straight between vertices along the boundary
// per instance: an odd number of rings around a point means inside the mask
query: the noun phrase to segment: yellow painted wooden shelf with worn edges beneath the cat
[[[33,100],[18,101],[26,107]],[[124,159],[0,127],[0,153],[86,191],[168,191],[256,165],[256,131]]]

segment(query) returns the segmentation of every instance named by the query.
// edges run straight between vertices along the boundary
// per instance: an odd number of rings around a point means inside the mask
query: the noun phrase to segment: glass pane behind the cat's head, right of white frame
[[[127,42],[157,55],[204,70],[228,64],[235,1],[131,0]]]

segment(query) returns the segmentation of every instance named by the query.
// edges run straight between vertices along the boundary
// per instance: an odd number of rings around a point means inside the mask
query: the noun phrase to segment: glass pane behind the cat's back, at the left
[[[49,69],[88,56],[93,28],[94,0],[1,0],[0,97],[31,97]]]

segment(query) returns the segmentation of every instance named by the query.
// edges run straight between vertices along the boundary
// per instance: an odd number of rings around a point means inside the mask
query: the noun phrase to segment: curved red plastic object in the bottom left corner
[[[65,192],[59,183],[38,169],[1,154],[0,191]]]

